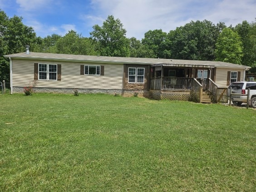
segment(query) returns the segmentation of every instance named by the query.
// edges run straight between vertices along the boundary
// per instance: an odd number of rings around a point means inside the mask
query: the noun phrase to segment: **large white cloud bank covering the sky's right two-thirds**
[[[148,30],[169,32],[191,20],[236,25],[255,17],[255,0],[92,0],[95,15],[119,18],[127,37],[144,37]]]

